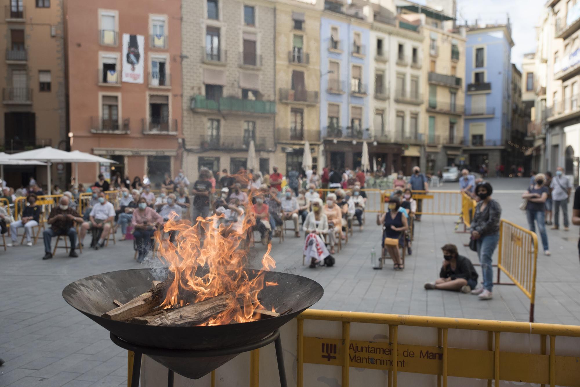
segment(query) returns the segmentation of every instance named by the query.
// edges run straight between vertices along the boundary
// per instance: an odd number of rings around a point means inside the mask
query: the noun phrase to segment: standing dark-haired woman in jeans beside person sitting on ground
[[[492,257],[499,242],[499,220],[502,216],[502,207],[497,200],[491,198],[493,191],[488,182],[481,182],[475,187],[475,193],[480,201],[475,207],[471,222],[471,238],[476,240],[483,287],[472,290],[472,294],[477,294],[480,300],[491,300],[494,287]]]

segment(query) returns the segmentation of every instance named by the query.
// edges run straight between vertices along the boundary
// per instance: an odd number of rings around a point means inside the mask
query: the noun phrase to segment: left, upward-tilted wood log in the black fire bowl
[[[173,278],[170,277],[151,287],[145,293],[133,298],[133,300],[126,304],[122,304],[107,313],[103,313],[101,317],[115,321],[126,321],[133,317],[148,315],[155,307],[159,306],[161,298],[165,296],[165,291],[172,282]]]

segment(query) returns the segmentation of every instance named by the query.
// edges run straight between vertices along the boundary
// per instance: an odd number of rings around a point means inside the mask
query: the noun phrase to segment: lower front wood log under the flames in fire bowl
[[[218,295],[207,300],[195,302],[170,312],[160,313],[154,316],[134,317],[130,323],[146,324],[153,326],[195,326],[205,323],[211,317],[219,315],[231,306],[231,296]]]

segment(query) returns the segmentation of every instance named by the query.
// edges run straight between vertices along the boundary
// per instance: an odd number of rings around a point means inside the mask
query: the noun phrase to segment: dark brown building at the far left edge
[[[1,151],[67,150],[63,0],[3,3]],[[63,164],[53,165],[53,182],[63,187],[65,172]],[[4,167],[12,187],[27,185],[30,176],[46,187],[46,167]]]

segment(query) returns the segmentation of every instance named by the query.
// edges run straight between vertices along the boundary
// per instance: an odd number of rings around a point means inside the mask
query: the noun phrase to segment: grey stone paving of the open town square
[[[490,181],[503,218],[527,227],[517,207],[528,180]],[[446,183],[439,189],[456,187],[456,183]],[[477,261],[475,253],[463,247],[467,235],[454,232],[455,220],[423,216],[403,272],[394,272],[390,265],[382,271],[371,268],[371,249],[380,251],[380,228],[370,213],[364,231],[355,227],[354,236],[335,255],[332,268],[302,266],[303,239],[291,232],[281,244],[274,240],[272,255],[277,271],[307,276],[324,287],[324,297],[315,308],[527,321],[529,301],[515,286],[494,287],[491,301],[423,290],[423,283],[438,274],[444,243],[455,243],[460,254]],[[572,226],[569,232],[549,230],[548,235],[553,255],[538,255],[536,321],[579,324],[578,227]],[[251,265],[258,266],[263,251],[260,246]],[[61,291],[68,283],[95,273],[144,267],[133,261],[132,243],[85,250],[77,259],[59,250],[52,260],[42,261],[43,254],[42,241],[34,247],[0,251],[0,357],[6,361],[0,367],[0,387],[126,385],[126,352],[110,341],[103,328],[68,306]]]

